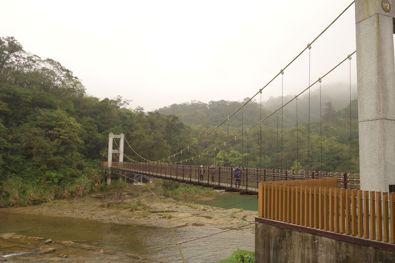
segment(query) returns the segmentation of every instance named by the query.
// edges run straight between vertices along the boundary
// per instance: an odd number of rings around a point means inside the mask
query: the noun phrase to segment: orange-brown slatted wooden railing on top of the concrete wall
[[[395,193],[340,189],[323,180],[260,182],[258,217],[395,243]]]

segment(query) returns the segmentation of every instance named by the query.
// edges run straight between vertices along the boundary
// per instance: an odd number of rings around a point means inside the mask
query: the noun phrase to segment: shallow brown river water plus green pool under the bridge
[[[222,207],[229,202],[253,198],[232,193],[217,197],[211,203]],[[0,251],[14,255],[7,258],[8,262],[182,262],[169,228],[8,212],[0,212],[0,222]],[[198,224],[174,228],[186,262],[218,262],[237,249],[254,250],[253,225],[248,230],[230,230],[205,237],[224,230],[226,228]],[[1,238],[4,233],[12,232],[43,239],[27,242],[24,237]],[[49,238],[55,243],[43,245]],[[40,248],[48,246],[56,251],[39,254]],[[60,258],[63,254],[67,257]]]

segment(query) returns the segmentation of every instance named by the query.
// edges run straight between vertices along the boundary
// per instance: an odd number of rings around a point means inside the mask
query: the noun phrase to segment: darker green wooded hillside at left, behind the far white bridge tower
[[[128,110],[122,98],[85,93],[52,59],[0,38],[0,200],[69,196],[100,185],[108,134],[123,132],[141,155],[159,159],[192,142],[175,115]],[[125,147],[125,155],[135,158]],[[141,161],[141,159],[139,159]]]

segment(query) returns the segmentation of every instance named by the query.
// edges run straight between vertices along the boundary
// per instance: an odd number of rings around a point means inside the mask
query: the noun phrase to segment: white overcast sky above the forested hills
[[[86,92],[152,111],[191,100],[251,97],[351,0],[1,0],[0,36],[52,58]],[[313,44],[315,81],[355,50],[354,5]],[[356,83],[356,56],[352,82]],[[309,53],[283,75],[284,95],[309,84]],[[322,82],[349,81],[349,64]],[[354,85],[354,84],[353,84]],[[281,79],[263,97],[281,95]],[[259,98],[258,98],[259,101]]]

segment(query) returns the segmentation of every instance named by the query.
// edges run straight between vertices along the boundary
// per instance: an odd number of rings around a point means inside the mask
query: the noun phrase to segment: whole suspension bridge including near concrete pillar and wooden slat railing
[[[355,4],[356,10],[356,50],[345,50],[343,58],[335,65],[329,65],[326,72],[312,81],[310,78],[311,50],[318,38],[336,23],[336,21]],[[209,130],[201,138],[189,146],[158,160],[150,160],[149,156],[142,156],[127,142],[123,134],[109,135],[108,161],[102,162],[106,172],[107,182],[111,183],[112,172],[115,176],[137,173],[168,180],[177,180],[185,183],[197,184],[213,188],[221,188],[240,193],[259,192],[259,219],[258,223],[272,224],[285,229],[289,224],[298,225],[298,231],[328,236],[337,240],[364,244],[380,249],[395,251],[395,59],[394,40],[395,9],[394,0],[356,0],[351,2],[329,25],[310,41],[300,53],[290,60],[267,84],[259,88],[247,101],[231,113],[222,122]],[[308,84],[288,101],[283,101],[283,78],[291,64],[308,52],[309,76]],[[358,118],[359,118],[359,159],[360,174],[349,171],[312,171],[312,138],[311,138],[311,105],[310,90],[319,87],[319,154],[318,158],[322,167],[322,105],[321,85],[326,77],[339,70],[341,65],[348,63],[350,114],[349,114],[349,147],[350,164],[352,161],[352,132],[351,132],[351,59],[356,56],[357,88],[358,88]],[[263,114],[262,94],[275,79],[281,82],[281,106],[276,110]],[[280,79],[280,80],[279,80]],[[307,148],[303,154],[307,155],[307,171],[283,167],[283,109],[295,106],[295,136],[294,141],[288,142],[295,145],[295,161],[299,163],[301,144],[298,122],[298,98],[308,96],[308,123],[307,123]],[[243,109],[254,99],[260,99],[260,118],[254,125],[246,127],[243,121]],[[291,104],[292,103],[292,104]],[[237,114],[238,113],[238,114]],[[229,121],[241,117],[240,132],[230,136]],[[262,167],[262,125],[270,117],[277,121],[277,161],[278,167]],[[280,119],[280,120],[279,120]],[[227,131],[225,141],[217,141],[217,131]],[[250,149],[248,134],[259,130],[259,149]],[[119,143],[116,141],[119,139]],[[207,144],[207,141],[211,143]],[[125,154],[124,141],[132,154]],[[117,149],[113,149],[113,143]],[[138,143],[138,142],[134,142]],[[234,166],[206,165],[208,155],[211,154],[216,163],[216,156],[220,150],[226,152],[225,163],[229,164],[230,147],[236,148],[237,143],[241,149],[241,168]],[[197,147],[200,146],[200,148]],[[197,149],[200,149],[197,152]],[[202,149],[202,150],[201,150]],[[243,160],[244,153],[252,150],[259,151],[258,167],[248,167],[248,154]],[[118,154],[118,161],[113,161],[113,154]],[[184,156],[184,158],[183,158]],[[187,157],[186,157],[187,156]],[[128,162],[123,162],[123,158]],[[317,156],[315,156],[317,157]],[[202,167],[201,167],[202,165]],[[331,185],[325,185],[325,180]],[[321,179],[321,180],[319,180]],[[300,182],[303,180],[306,183]],[[314,181],[311,181],[314,180]],[[318,181],[316,181],[318,180]],[[238,181],[240,182],[238,184]],[[293,182],[298,181],[298,183]],[[322,184],[322,185],[321,185]],[[301,185],[301,187],[299,186]],[[318,187],[315,189],[314,187]],[[361,190],[359,190],[361,189]],[[389,193],[388,193],[389,192]],[[388,198],[390,197],[390,198]],[[370,208],[370,210],[369,210]],[[383,210],[382,210],[383,209]],[[281,212],[283,211],[283,212]],[[287,212],[285,212],[287,211]],[[383,212],[384,211],[384,212]],[[390,214],[389,214],[390,211]],[[384,214],[383,214],[384,213]],[[377,218],[377,220],[376,220]],[[273,223],[276,221],[276,223]],[[340,226],[337,225],[340,222]],[[376,224],[377,223],[377,224]],[[288,224],[288,225],[287,225]],[[384,224],[384,225],[383,225]],[[258,227],[258,226],[256,226]],[[312,231],[310,228],[316,228]],[[339,233],[340,234],[337,234]],[[384,231],[385,245],[382,242]],[[327,234],[327,232],[331,232]],[[369,235],[370,233],[370,235]],[[376,235],[377,233],[377,235]],[[348,238],[342,237],[348,235]],[[369,239],[369,242],[360,241],[358,238]],[[358,241],[359,240],[359,241]],[[278,242],[282,242],[278,240]],[[358,243],[359,242],[359,243]],[[287,246],[285,246],[287,247]],[[309,248],[310,249],[310,248]],[[260,257],[264,257],[261,255]]]

